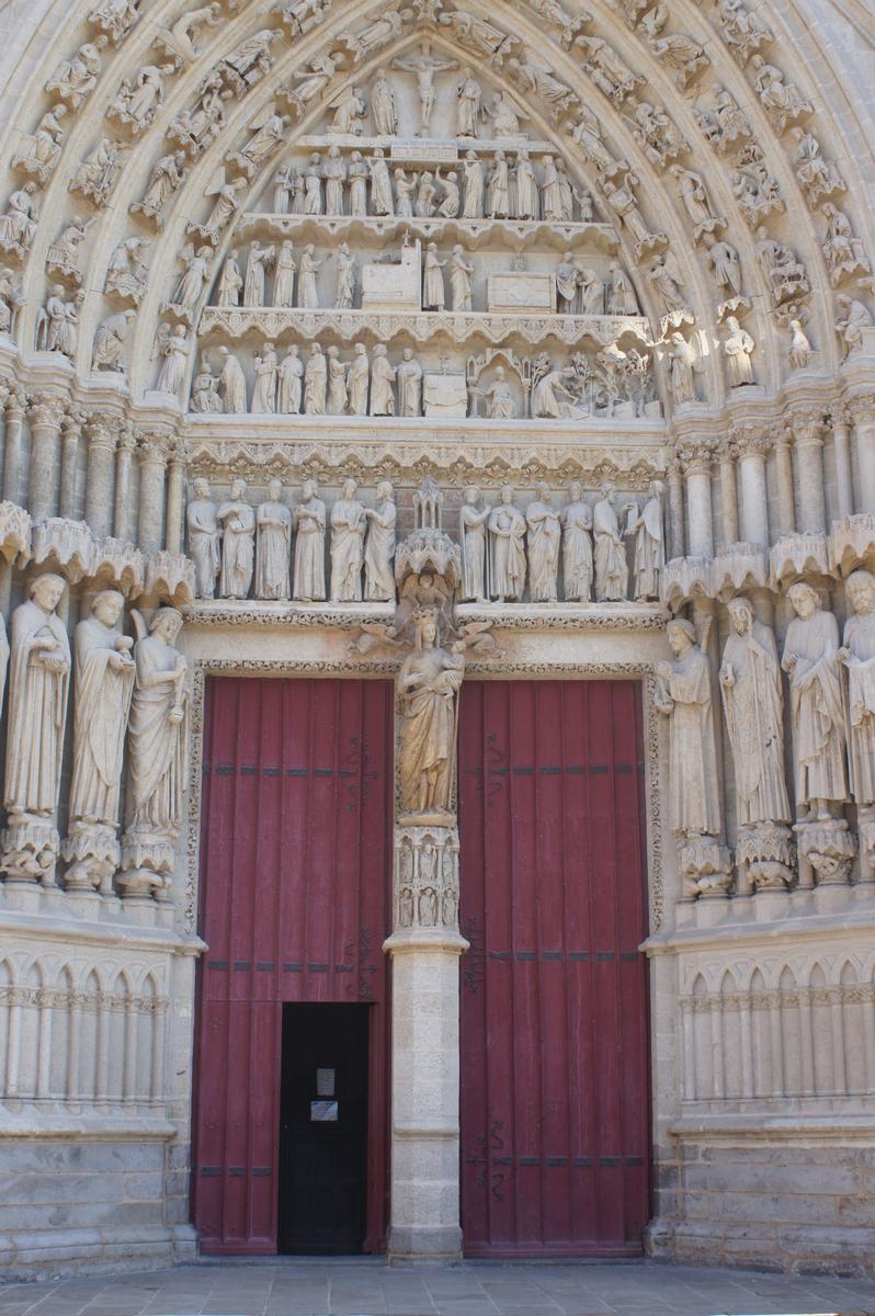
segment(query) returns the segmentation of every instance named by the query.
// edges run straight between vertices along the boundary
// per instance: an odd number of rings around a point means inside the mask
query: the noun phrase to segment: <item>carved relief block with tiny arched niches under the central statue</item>
[[[459,933],[457,828],[395,829],[395,932]]]

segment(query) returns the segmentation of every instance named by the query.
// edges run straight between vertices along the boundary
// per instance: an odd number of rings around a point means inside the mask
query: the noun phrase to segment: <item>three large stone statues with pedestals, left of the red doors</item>
[[[61,853],[67,890],[108,894],[121,865],[118,890],[147,895],[164,886],[172,869],[182,819],[187,665],[174,642],[183,619],[175,608],[158,608],[149,622],[134,613],[134,642],[121,629],[122,595],[104,590],[76,625],[71,651],[58,616],[64,588],[58,575],[33,579],[28,601],[12,613],[9,641],[0,619],[0,704],[9,672],[0,869],[8,880],[54,884]],[[59,846],[55,824],[71,704],[68,828]]]

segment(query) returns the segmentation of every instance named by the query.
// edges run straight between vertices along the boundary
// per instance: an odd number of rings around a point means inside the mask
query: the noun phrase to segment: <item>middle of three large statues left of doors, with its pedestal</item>
[[[78,884],[78,879],[86,886],[96,884],[89,875],[97,866],[93,861],[100,862],[101,857],[101,848],[93,844],[99,840],[93,836],[96,828],[111,830],[109,858],[114,858],[125,729],[136,675],[129,651],[133,640],[118,630],[124,607],[121,594],[103,590],[92,600],[91,616],[75,630],[70,822],[71,833],[78,834],[71,836],[72,844],[64,849],[66,857],[76,861],[67,871],[67,886]],[[114,863],[111,871],[113,867]],[[96,874],[97,879],[100,875]]]

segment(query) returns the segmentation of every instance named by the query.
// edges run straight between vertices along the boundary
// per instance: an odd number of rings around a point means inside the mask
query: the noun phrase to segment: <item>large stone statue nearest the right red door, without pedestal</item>
[[[676,836],[720,836],[711,669],[691,621],[666,626],[674,657],[657,663],[657,708],[670,725],[668,819]]]

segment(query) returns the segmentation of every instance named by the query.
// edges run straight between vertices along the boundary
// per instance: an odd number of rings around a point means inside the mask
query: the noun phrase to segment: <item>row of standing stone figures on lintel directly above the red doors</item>
[[[307,480],[292,509],[283,484],[271,480],[267,500],[253,505],[246,482],[234,480],[226,501],[216,504],[205,479],[193,483],[188,503],[188,553],[195,562],[200,599],[326,597],[325,540],[330,534],[328,597],[336,603],[362,599],[395,601],[393,571],[397,508],[388,480],[376,487],[374,507],[357,497],[354,479],[343,480],[330,513]],[[568,601],[618,603],[629,595],[629,554],[633,542],[633,595],[638,601],[659,597],[664,565],[659,480],[639,508],[634,500],[617,505],[607,480],[591,504],[574,482],[568,503],[557,508],[546,484],[538,484],[525,512],[505,486],[489,504],[480,490],[468,488],[459,512],[462,586],[466,601],[557,603],[562,562],[563,597]],[[292,536],[295,547],[292,553]],[[595,549],[593,549],[595,544]]]

